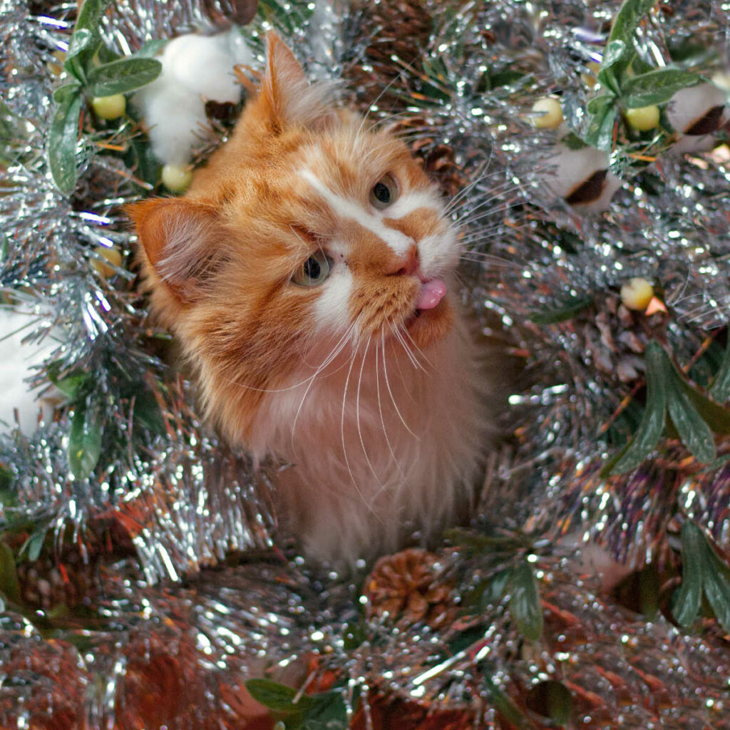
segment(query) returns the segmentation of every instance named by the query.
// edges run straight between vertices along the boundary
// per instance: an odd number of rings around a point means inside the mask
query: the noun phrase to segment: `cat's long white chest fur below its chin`
[[[425,355],[371,344],[311,377],[302,369],[302,385],[272,393],[253,434],[254,453],[292,464],[283,521],[307,554],[353,564],[464,510],[492,426],[462,320]]]

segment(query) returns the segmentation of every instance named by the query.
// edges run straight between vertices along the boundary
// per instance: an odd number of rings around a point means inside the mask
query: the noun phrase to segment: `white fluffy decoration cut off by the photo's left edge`
[[[47,417],[53,407],[47,401],[37,401],[28,388],[26,378],[33,366],[39,365],[58,345],[50,338],[41,344],[23,345],[21,340],[34,326],[35,317],[0,306],[0,433],[8,433],[15,426],[14,410],[18,410],[20,430],[32,434],[40,410]]]

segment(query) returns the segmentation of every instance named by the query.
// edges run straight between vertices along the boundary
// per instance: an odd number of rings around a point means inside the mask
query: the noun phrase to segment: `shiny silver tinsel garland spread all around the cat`
[[[585,130],[590,89],[580,74],[599,58],[619,5],[425,3],[434,33],[421,54],[423,68],[404,71],[400,108],[382,104],[372,115],[418,117],[417,134],[453,150],[471,180],[455,212],[473,266],[466,296],[485,331],[523,370],[508,408],[517,445],[497,460],[475,520],[488,515],[502,526],[553,535],[577,529],[640,568],[666,550],[677,504],[730,548],[727,469],[677,477],[669,500],[661,465],[610,480],[597,476],[610,448],[599,427],[631,394],[642,367],[641,358],[606,345],[631,329],[618,325],[618,305],[610,300],[630,277],[656,282],[669,307],[661,333],[683,364],[726,325],[730,166],[699,154],[667,152],[634,167],[616,158],[614,172],[625,182],[605,212],[581,212],[550,193],[545,181],[557,137],[531,126],[531,104],[559,91],[566,120]],[[363,61],[365,5],[262,6],[244,31],[259,55],[262,32],[273,24],[315,77],[338,78],[353,64],[372,72]],[[93,475],[72,477],[66,453],[73,409],[61,409],[31,437],[4,437],[0,466],[12,479],[13,498],[0,506],[0,519],[9,527],[40,526],[41,540],[48,530],[47,552],[61,566],[74,550],[96,565],[104,550],[93,536],[110,521],[123,527],[131,548],[99,563],[86,596],[92,615],[78,606],[60,618],[47,606],[4,612],[0,724],[239,727],[241,718],[255,716],[247,677],[266,673],[301,685],[331,671],[348,719],[356,715],[356,696],[372,690],[434,712],[464,711],[468,726],[501,727],[502,694],[526,695],[555,679],[572,689],[572,720],[585,727],[729,726],[730,669],[721,639],[711,631],[691,637],[664,618],[642,623],[612,607],[566,569],[564,548],[534,561],[548,623],[534,645],[514,626],[508,598],[485,607],[473,626],[464,619],[450,632],[393,630],[387,619],[361,618],[364,588],[312,575],[300,558],[255,552],[272,546],[275,466],[254,472],[245,455],[210,434],[189,405],[188,383],[164,364],[164,333],[150,329],[132,274],[122,268],[105,278],[90,265],[100,244],[130,255],[121,209],[144,185],[89,138],[76,193],[62,196],[50,179],[53,53],[65,49],[73,13],[69,5],[31,10],[0,2],[2,129],[12,130],[2,140],[7,252],[0,286],[37,314],[31,338],[58,341],[38,383],[48,382],[49,367],[55,379],[92,375],[94,403],[103,404],[104,448]],[[227,28],[231,15],[227,0],[115,0],[104,37],[129,53],[149,39]],[[669,45],[694,42],[715,50],[702,72],[726,69],[729,19],[721,1],[663,2],[641,26],[639,50],[658,64],[668,61]],[[488,88],[486,72],[514,73]],[[592,304],[559,323],[531,321],[568,298]],[[629,367],[638,372],[625,381],[611,372]],[[129,383],[146,388],[161,429],[134,426]],[[231,553],[247,553],[250,564],[224,567]],[[492,570],[458,548],[443,563],[457,576],[459,595]],[[210,569],[200,572],[203,566]],[[465,628],[475,629],[475,638],[458,646]],[[664,704],[653,697],[658,688]],[[140,704],[145,692],[148,702]]]

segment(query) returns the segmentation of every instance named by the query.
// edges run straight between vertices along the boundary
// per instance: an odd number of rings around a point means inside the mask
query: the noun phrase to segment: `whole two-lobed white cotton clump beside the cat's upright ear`
[[[237,28],[215,36],[188,34],[170,41],[158,58],[162,72],[137,93],[155,157],[185,166],[208,126],[205,102],[237,104],[241,87],[234,66],[250,65],[253,54]]]

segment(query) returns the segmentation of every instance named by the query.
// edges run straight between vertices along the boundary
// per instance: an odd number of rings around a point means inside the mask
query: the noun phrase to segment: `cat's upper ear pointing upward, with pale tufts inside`
[[[331,84],[310,84],[288,45],[274,31],[266,34],[266,71],[258,107],[270,128],[280,132],[291,124],[331,123],[335,118],[327,103],[331,90]]]

